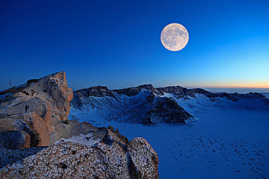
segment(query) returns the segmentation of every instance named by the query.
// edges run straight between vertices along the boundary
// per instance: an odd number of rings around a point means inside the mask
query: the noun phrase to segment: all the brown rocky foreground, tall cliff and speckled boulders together
[[[159,178],[145,139],[68,121],[72,96],[65,72],[0,93],[0,178]],[[79,135],[92,145],[61,140]]]

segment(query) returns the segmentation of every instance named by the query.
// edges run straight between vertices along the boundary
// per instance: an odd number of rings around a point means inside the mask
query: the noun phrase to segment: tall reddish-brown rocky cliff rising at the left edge
[[[13,88],[16,91],[5,94],[0,101],[0,146],[46,146],[61,139],[73,97],[65,72],[28,80]],[[11,137],[16,142],[11,143]]]

